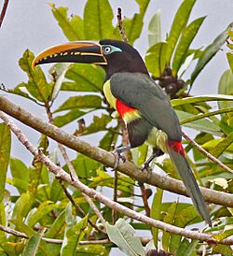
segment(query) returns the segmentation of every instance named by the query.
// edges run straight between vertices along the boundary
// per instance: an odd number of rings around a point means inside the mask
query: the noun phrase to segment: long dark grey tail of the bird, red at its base
[[[199,215],[205,220],[210,226],[212,225],[209,210],[205,204],[203,195],[199,190],[199,185],[196,178],[193,175],[192,169],[185,159],[184,149],[180,142],[179,150],[177,147],[171,147],[171,142],[168,144],[168,153],[171,157],[171,161],[175,165],[179,175],[185,183],[187,193],[192,198],[192,201],[199,211]],[[181,150],[183,149],[183,150]]]

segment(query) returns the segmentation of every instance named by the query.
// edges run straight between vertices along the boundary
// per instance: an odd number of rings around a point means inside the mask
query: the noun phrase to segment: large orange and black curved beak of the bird
[[[37,64],[50,63],[107,64],[101,45],[85,41],[57,45],[40,52],[34,58],[32,68]]]

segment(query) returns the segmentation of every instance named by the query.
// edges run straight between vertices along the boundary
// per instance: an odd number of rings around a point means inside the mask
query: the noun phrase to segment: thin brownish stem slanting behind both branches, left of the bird
[[[53,121],[53,116],[52,116],[52,112],[50,111],[50,107],[48,106],[48,104],[45,105],[46,107],[46,111],[47,111],[47,115],[48,115],[48,121],[50,123],[54,123]],[[74,165],[71,163],[70,161],[70,158],[66,152],[66,149],[63,147],[63,145],[61,143],[58,143],[58,148],[60,149],[61,153],[62,153],[62,157],[65,161],[65,163],[67,164],[67,167],[70,171],[70,175],[71,175],[71,178],[75,178],[75,179],[79,179],[76,175],[76,172],[75,172],[75,168],[74,168]],[[62,187],[63,188],[63,187]],[[103,223],[103,228],[105,228],[105,220],[103,218],[103,215],[102,213],[100,212],[100,210],[98,209],[98,207],[92,202],[92,200],[89,198],[89,196],[86,194],[86,193],[82,193],[84,198],[86,199],[86,201],[89,203],[89,206],[93,209],[93,211],[95,212],[95,214],[99,217],[99,219],[102,221]],[[68,197],[70,198],[70,197]],[[72,203],[72,201],[71,201]],[[75,204],[76,205],[76,204]],[[92,223],[92,221],[90,221]],[[90,224],[93,226],[94,223]],[[98,230],[98,231],[101,231],[105,234],[105,232],[101,229],[99,229],[96,225],[95,225],[95,228]]]

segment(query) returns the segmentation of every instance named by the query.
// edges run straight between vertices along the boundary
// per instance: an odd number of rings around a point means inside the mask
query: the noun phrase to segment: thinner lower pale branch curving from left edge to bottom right
[[[56,178],[62,179],[63,181],[68,182],[70,185],[75,187],[75,189],[79,190],[80,192],[84,192],[88,194],[90,197],[98,200],[99,202],[103,203],[105,206],[110,208],[115,208],[118,212],[134,219],[144,222],[152,227],[162,229],[166,232],[176,234],[176,235],[183,235],[187,238],[206,241],[212,244],[225,244],[225,245],[233,245],[233,236],[227,237],[221,241],[217,241],[212,237],[212,235],[199,233],[198,231],[192,230],[185,230],[180,227],[173,226],[168,223],[164,223],[160,220],[153,220],[147,216],[144,216],[141,213],[135,212],[126,206],[122,206],[111,199],[107,198],[100,192],[96,192],[93,189],[90,189],[88,186],[84,185],[77,179],[72,179],[60,166],[52,163],[50,159],[43,154],[43,152],[33,144],[31,144],[25,135],[21,133],[21,130],[15,125],[13,121],[11,121],[5,113],[0,111],[0,118],[7,123],[7,126],[10,130],[17,136],[17,138],[21,141],[22,145],[26,147],[33,155],[38,159],[42,164],[46,164],[48,166],[48,170],[52,172]]]

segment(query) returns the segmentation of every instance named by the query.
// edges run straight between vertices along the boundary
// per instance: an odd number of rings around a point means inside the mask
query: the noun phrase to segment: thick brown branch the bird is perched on
[[[91,146],[89,143],[82,141],[74,135],[67,134],[62,129],[33,116],[25,109],[22,109],[21,107],[13,104],[4,96],[0,96],[0,110],[6,112],[8,115],[23,122],[24,124],[34,128],[36,131],[44,135],[48,135],[48,137],[56,140],[62,145],[87,155],[91,159],[100,162],[105,166],[114,167],[115,157],[112,153],[103,149],[99,149],[95,146]],[[142,172],[141,168],[128,161],[124,164],[120,162],[117,166],[117,169],[121,173],[130,176],[130,178],[135,178],[140,182],[156,186],[166,191],[188,196],[183,182],[175,178],[169,178],[168,176],[164,177],[158,175],[155,172]],[[220,206],[233,207],[232,194],[226,192],[218,192],[202,187],[200,187],[200,190],[204,196],[205,201]]]

